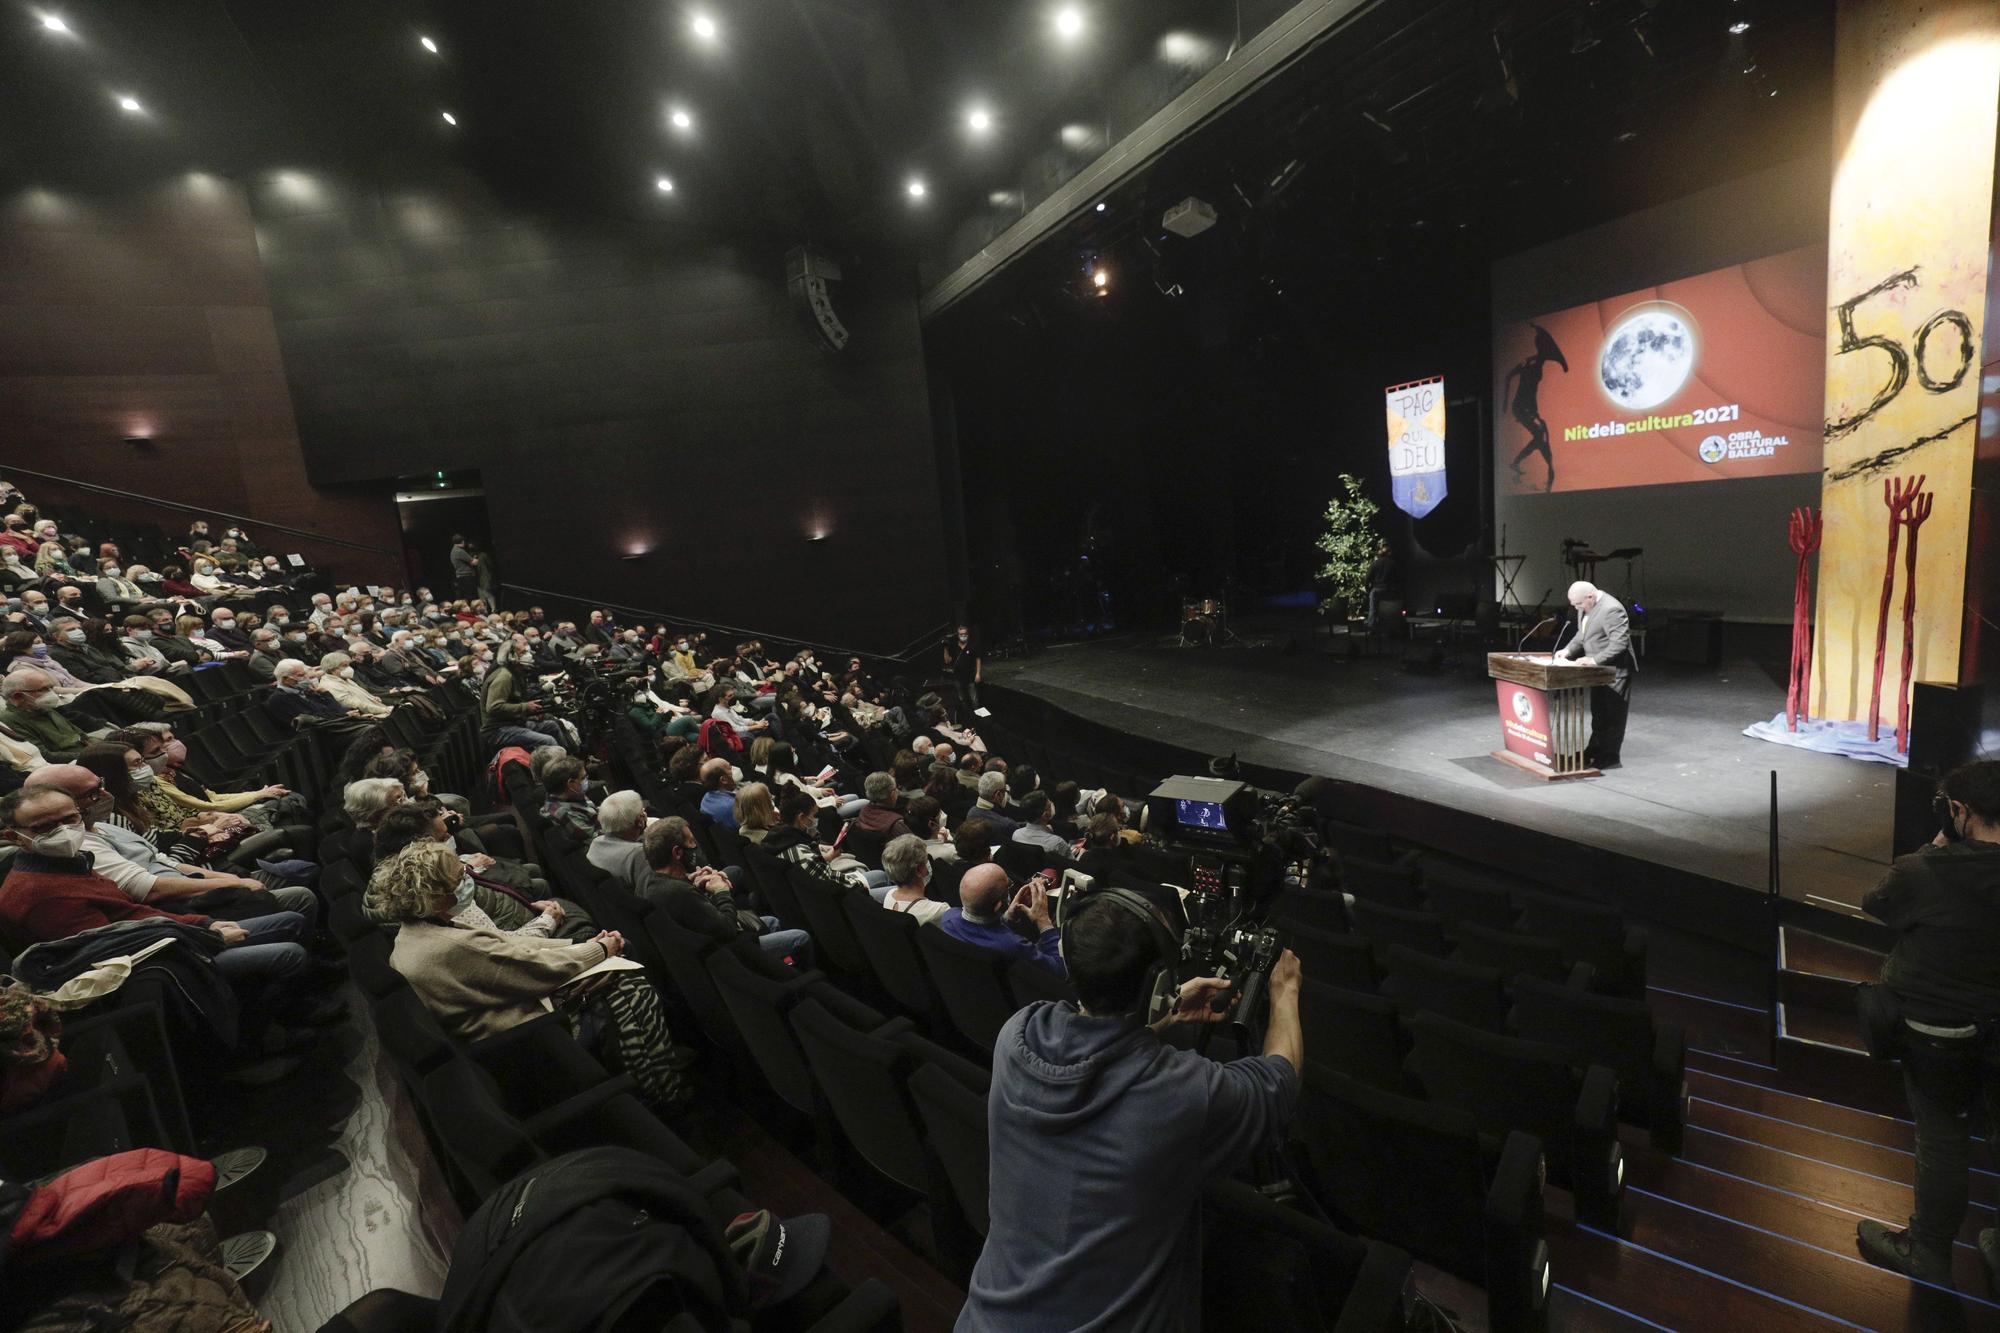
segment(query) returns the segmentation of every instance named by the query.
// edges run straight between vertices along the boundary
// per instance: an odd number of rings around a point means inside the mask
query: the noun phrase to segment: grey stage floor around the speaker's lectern
[[[1212,755],[1362,783],[1762,893],[1778,773],[1786,899],[1852,913],[1890,861],[1894,769],[1752,741],[1784,681],[1748,660],[1648,660],[1624,765],[1546,783],[1492,759],[1492,681],[1384,656],[1104,638],[990,660],[986,677],[1078,717]],[[1476,855],[1476,853],[1474,853]]]

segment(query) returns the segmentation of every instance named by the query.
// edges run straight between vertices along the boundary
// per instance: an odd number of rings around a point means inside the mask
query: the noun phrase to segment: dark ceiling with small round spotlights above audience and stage
[[[1060,0],[8,8],[4,184],[300,164],[406,184],[468,166],[526,208],[900,242],[936,280],[1286,6],[1078,0],[1074,42],[1054,32]],[[690,30],[698,12],[714,42]],[[1190,250],[1176,260],[1154,224],[1186,194],[1238,228],[1256,214],[1264,240],[1316,262],[1484,262],[1824,150],[1830,48],[1830,0],[1380,0],[1060,228],[1028,274],[1066,282],[1102,252],[1170,288]],[[144,110],[120,110],[124,94]],[[972,106],[992,114],[986,136]],[[1286,240],[1266,226],[1280,214],[1310,226]]]

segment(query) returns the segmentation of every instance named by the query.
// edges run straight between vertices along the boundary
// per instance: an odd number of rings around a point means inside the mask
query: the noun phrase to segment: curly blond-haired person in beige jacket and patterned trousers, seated
[[[586,1013],[600,1029],[600,1055],[632,1075],[638,1095],[662,1115],[694,1099],[684,1071],[692,1053],[666,1031],[660,997],[636,971],[600,973],[570,985],[606,959],[624,955],[624,937],[602,931],[580,943],[506,935],[454,921],[464,867],[444,843],[410,843],[378,861],[368,879],[372,911],[396,923],[390,965],[402,973],[446,1031],[478,1041],[540,1019],[554,1003],[572,1035]]]

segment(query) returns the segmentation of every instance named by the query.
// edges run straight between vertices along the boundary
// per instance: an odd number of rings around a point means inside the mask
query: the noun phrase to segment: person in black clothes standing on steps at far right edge
[[[1896,931],[1882,985],[1902,1009],[1902,1081],[1916,1117],[1916,1211],[1906,1231],[1864,1221],[1870,1263],[1952,1285],[1952,1241],[1966,1217],[1972,1113],[2000,1121],[2000,761],[1946,775],[1938,837],[1862,899]],[[1980,1231],[2000,1283],[2000,1233]]]

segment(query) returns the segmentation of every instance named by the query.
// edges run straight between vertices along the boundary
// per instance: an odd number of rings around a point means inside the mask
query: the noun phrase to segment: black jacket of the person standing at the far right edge
[[[2000,843],[1896,857],[1862,911],[1896,931],[1882,983],[1918,1023],[2000,1019]]]

